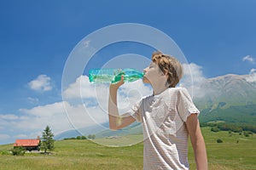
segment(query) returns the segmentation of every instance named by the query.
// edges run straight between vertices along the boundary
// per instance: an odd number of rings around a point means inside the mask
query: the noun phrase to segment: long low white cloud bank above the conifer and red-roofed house
[[[67,102],[20,109],[20,114],[17,116],[13,114],[0,116],[1,129],[9,134],[8,143],[15,142],[15,139],[37,138],[42,135],[46,125],[51,127],[53,133],[58,134],[73,127],[79,129],[107,121],[106,111],[99,106],[86,108],[84,105],[70,105]],[[6,143],[7,136],[3,134],[2,136],[4,138],[0,138],[0,144]]]

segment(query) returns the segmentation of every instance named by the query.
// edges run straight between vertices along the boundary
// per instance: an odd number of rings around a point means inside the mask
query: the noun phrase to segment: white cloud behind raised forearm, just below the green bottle
[[[79,101],[81,101],[83,99],[85,105],[88,104],[87,101],[89,100],[90,104],[94,101],[93,104],[102,106],[108,103],[108,87],[108,84],[92,84],[87,76],[81,76],[64,90],[62,95],[63,99],[67,101],[73,99],[80,99]],[[135,103],[135,100],[148,94],[151,94],[151,89],[141,80],[125,83],[119,89],[119,105],[127,105],[127,99],[130,103]]]

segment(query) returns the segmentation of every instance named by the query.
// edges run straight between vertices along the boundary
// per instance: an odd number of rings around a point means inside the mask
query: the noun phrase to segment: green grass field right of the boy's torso
[[[256,170],[256,134],[250,137],[239,135],[239,133],[229,133],[220,131],[213,133],[210,127],[203,127],[202,133],[207,145],[207,156],[209,169],[250,169]],[[222,139],[223,143],[217,143],[217,139]],[[237,143],[238,142],[238,143]],[[189,147],[189,157],[193,157],[192,148]],[[194,167],[194,161],[189,159],[190,166]]]

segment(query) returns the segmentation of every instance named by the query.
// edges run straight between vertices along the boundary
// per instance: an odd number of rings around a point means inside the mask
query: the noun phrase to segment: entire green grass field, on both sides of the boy
[[[203,127],[202,133],[207,144],[210,170],[256,169],[255,134],[244,137],[238,133],[212,133],[209,127]],[[218,144],[217,139],[222,139],[224,142]],[[142,143],[126,147],[106,147],[90,140],[61,140],[55,141],[55,150],[49,156],[36,153],[12,156],[8,154],[11,148],[12,144],[0,145],[1,170],[143,169]],[[191,144],[189,144],[189,164],[190,169],[195,169]]]

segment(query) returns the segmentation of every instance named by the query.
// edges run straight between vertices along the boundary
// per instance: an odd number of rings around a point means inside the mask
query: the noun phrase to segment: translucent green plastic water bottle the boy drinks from
[[[121,80],[124,75],[124,82],[134,82],[144,76],[143,72],[135,69],[92,69],[89,71],[89,81],[92,83],[115,83]]]

